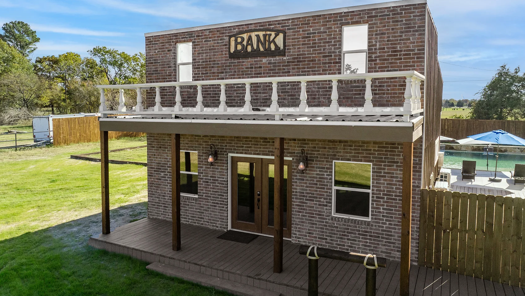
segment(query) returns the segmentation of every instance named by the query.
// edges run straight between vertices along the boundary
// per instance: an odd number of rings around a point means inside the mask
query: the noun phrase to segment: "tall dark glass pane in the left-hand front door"
[[[255,222],[255,164],[237,162],[237,221]]]

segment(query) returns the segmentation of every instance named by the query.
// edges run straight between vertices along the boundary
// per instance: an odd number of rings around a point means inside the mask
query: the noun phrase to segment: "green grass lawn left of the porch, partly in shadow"
[[[5,127],[2,127],[5,128]],[[110,140],[109,148],[145,145]],[[228,295],[87,246],[101,231],[99,143],[0,150],[0,295]],[[109,165],[112,228],[146,215],[146,167]]]

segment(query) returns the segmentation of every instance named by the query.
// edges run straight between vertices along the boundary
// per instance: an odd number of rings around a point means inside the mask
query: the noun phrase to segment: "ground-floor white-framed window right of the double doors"
[[[333,161],[332,215],[370,220],[372,164]]]

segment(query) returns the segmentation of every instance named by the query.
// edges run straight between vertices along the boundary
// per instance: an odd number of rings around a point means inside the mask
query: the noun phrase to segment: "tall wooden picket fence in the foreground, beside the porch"
[[[521,198],[421,190],[418,264],[525,287]]]

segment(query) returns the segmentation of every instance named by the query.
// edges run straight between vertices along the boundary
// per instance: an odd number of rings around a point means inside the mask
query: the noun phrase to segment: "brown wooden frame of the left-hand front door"
[[[231,199],[229,202],[228,207],[230,207],[230,211],[232,212],[232,220],[231,220],[231,227],[235,227],[235,229],[244,230],[244,231],[250,231],[250,232],[261,232],[260,226],[261,223],[261,212],[262,208],[259,205],[259,209],[255,209],[255,218],[254,223],[250,222],[243,222],[243,221],[237,221],[237,203],[234,202],[234,196],[237,193],[237,179],[234,178],[235,175],[237,175],[237,166],[233,166],[234,162],[254,162],[255,163],[255,192],[259,191],[262,192],[262,159],[257,157],[244,157],[244,156],[234,156],[230,159],[230,191],[231,191]],[[260,180],[257,182],[257,180]],[[254,192],[254,197],[257,198],[257,193]],[[262,201],[262,194],[259,197]],[[262,202],[261,202],[262,203]],[[257,202],[255,201],[255,205],[257,206]]]

